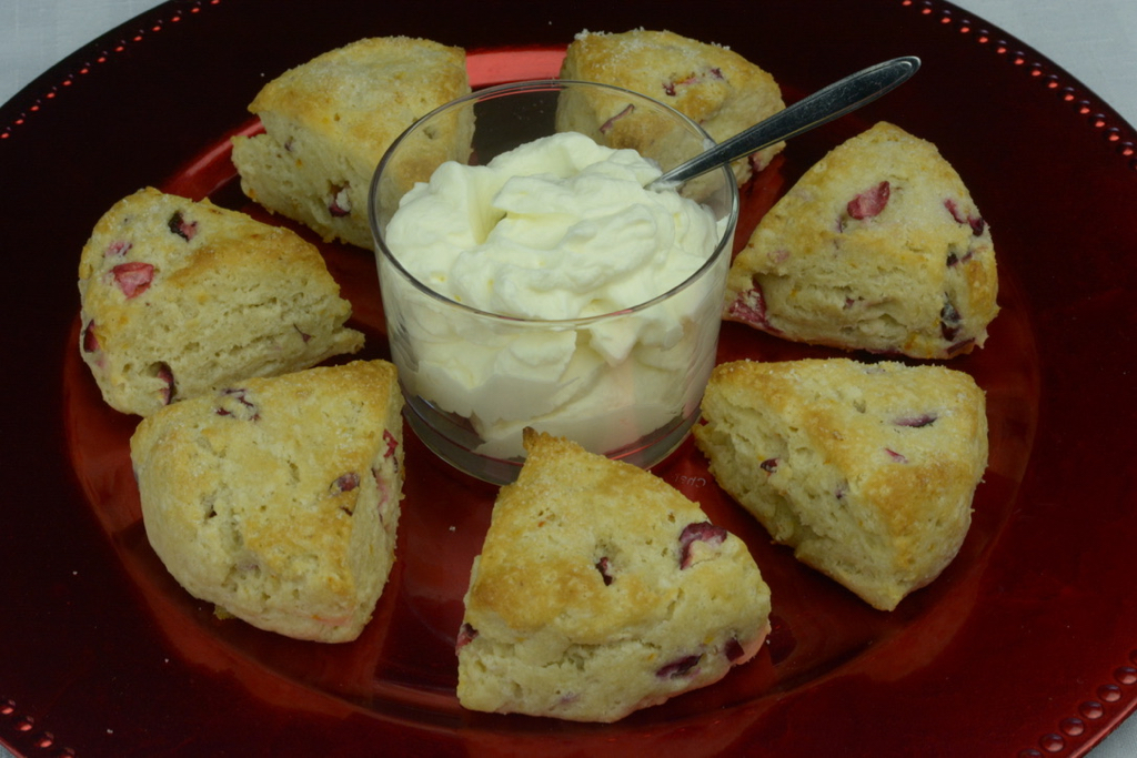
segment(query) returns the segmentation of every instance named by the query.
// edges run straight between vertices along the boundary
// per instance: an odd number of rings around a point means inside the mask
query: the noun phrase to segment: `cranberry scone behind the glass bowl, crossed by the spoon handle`
[[[697,122],[716,142],[786,107],[773,76],[742,56],[666,31],[581,32],[565,52],[561,78],[613,84],[659,100]],[[570,110],[564,128],[590,136],[603,132],[612,147],[641,148],[634,113],[597,110],[583,99]],[[736,160],[738,182],[765,168],[782,147]]]

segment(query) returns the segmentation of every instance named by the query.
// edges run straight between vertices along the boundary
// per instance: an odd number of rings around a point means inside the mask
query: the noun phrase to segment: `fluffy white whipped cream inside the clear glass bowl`
[[[479,453],[523,455],[525,426],[611,452],[697,410],[722,276],[629,309],[689,280],[725,222],[645,189],[659,175],[634,150],[566,132],[485,166],[446,163],[402,198],[388,249],[422,284],[483,313],[384,276],[392,352],[412,395],[468,419]]]

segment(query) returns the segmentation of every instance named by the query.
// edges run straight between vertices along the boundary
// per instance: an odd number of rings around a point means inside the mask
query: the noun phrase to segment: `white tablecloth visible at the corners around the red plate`
[[[1137,125],[1137,0],[956,1],[1065,68]],[[157,5],[155,0],[2,0],[0,102],[86,42]],[[1134,633],[1137,640],[1137,630]],[[9,756],[0,747],[0,758]],[[1134,756],[1137,717],[1090,753],[1090,758]]]

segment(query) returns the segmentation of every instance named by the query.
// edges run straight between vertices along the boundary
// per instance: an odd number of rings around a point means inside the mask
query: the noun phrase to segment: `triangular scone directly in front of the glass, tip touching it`
[[[719,681],[767,632],[746,544],[653,474],[526,431],[471,572],[466,708],[614,722]]]

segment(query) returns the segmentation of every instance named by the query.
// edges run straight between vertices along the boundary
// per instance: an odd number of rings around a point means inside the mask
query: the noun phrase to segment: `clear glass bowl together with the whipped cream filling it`
[[[467,111],[471,160],[422,165],[432,122]],[[391,147],[372,220],[392,358],[428,447],[508,482],[526,426],[641,466],[682,441],[714,364],[737,188],[725,168],[695,198],[645,186],[706,144],[647,98],[545,81],[455,101]]]

